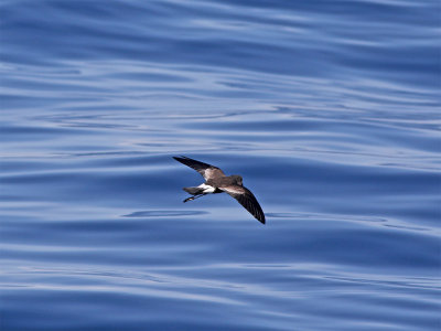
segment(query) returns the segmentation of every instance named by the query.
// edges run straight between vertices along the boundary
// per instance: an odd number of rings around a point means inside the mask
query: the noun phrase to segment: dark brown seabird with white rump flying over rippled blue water
[[[226,175],[219,168],[187,157],[173,157],[176,161],[196,170],[205,182],[198,186],[183,188],[192,196],[184,202],[195,200],[206,194],[228,193],[236,199],[256,220],[265,224],[265,214],[256,196],[243,185],[243,178],[238,174]]]

